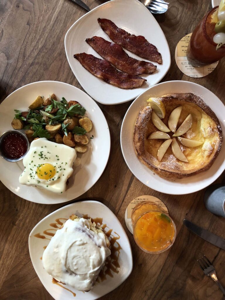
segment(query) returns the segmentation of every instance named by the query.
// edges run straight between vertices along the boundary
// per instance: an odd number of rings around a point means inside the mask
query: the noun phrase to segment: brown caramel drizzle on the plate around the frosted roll
[[[98,226],[101,226],[101,228],[104,230],[106,236],[109,238],[109,241],[110,241],[110,250],[111,250],[111,254],[110,256],[107,257],[106,261],[105,261],[105,265],[104,265],[104,268],[101,269],[99,275],[98,275],[98,278],[96,280],[96,282],[100,283],[104,280],[107,279],[107,275],[110,276],[110,277],[113,277],[113,273],[116,273],[118,274],[119,273],[119,268],[120,268],[120,265],[119,265],[119,256],[120,256],[120,250],[122,250],[120,244],[118,243],[117,240],[119,240],[120,236],[118,233],[114,232],[117,236],[114,236],[112,234],[113,232],[113,229],[110,229],[109,227],[107,227],[107,224],[103,224],[103,218],[91,218],[91,217],[88,217],[87,214],[84,214],[83,215],[83,218],[84,219],[91,219],[91,222],[95,222],[96,225]],[[58,219],[55,219],[55,222],[56,223],[50,223],[49,225],[51,227],[54,227],[56,229],[46,229],[43,231],[43,233],[45,235],[50,235],[50,236],[54,236],[55,235],[55,232],[61,228],[61,226],[64,224],[63,222],[61,222],[60,220],[67,220],[65,218],[58,218]],[[107,231],[105,229],[108,229]],[[53,230],[55,231],[54,233],[53,232],[49,232],[49,230]],[[46,238],[45,235],[41,235],[40,233],[37,233],[35,234],[34,236],[36,238]],[[47,240],[50,240],[50,238],[46,238]],[[46,249],[47,246],[44,246],[43,248]],[[40,258],[42,259],[42,257]],[[55,278],[52,278],[52,283],[54,284],[57,284],[58,286],[61,286],[62,288],[66,289],[67,291],[71,292],[73,294],[73,296],[75,297],[76,294],[74,292],[72,292],[70,289],[67,289],[66,287],[62,286],[61,284],[59,284],[59,282],[57,280],[55,280]]]

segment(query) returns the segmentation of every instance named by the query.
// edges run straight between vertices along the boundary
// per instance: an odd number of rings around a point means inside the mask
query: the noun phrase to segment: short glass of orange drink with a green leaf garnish
[[[176,226],[171,217],[154,202],[143,201],[131,214],[134,240],[147,253],[168,250],[176,238]]]

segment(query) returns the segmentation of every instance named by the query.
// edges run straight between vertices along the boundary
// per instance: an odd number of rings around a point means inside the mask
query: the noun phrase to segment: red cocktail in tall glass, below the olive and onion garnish
[[[212,64],[225,56],[225,45],[216,50],[213,42],[218,6],[204,16],[194,29],[187,48],[187,59],[194,67]]]

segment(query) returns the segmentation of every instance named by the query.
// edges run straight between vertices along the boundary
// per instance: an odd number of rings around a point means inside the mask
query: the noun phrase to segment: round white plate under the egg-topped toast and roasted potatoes
[[[98,104],[83,91],[64,82],[33,82],[10,94],[0,104],[0,134],[12,129],[11,122],[14,117],[14,109],[28,110],[28,106],[38,95],[48,97],[51,93],[55,93],[58,99],[65,97],[68,101],[77,100],[86,108],[87,115],[94,125],[93,130],[87,135],[91,137],[93,134],[94,139],[88,143],[88,151],[83,155],[78,155],[81,157],[81,165],[74,167],[68,188],[61,195],[20,184],[19,175],[24,170],[22,161],[10,163],[0,158],[0,167],[1,170],[4,170],[4,172],[0,172],[1,182],[21,198],[43,204],[66,202],[85,193],[98,181],[110,154],[110,132]]]

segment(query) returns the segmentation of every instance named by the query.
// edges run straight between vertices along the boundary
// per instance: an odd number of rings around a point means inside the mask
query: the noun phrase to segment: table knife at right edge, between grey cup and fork
[[[225,240],[220,238],[220,236],[215,235],[214,233],[209,232],[208,230],[197,226],[196,224],[188,221],[187,219],[183,220],[184,225],[193,233],[198,235],[203,240],[225,250]]]

